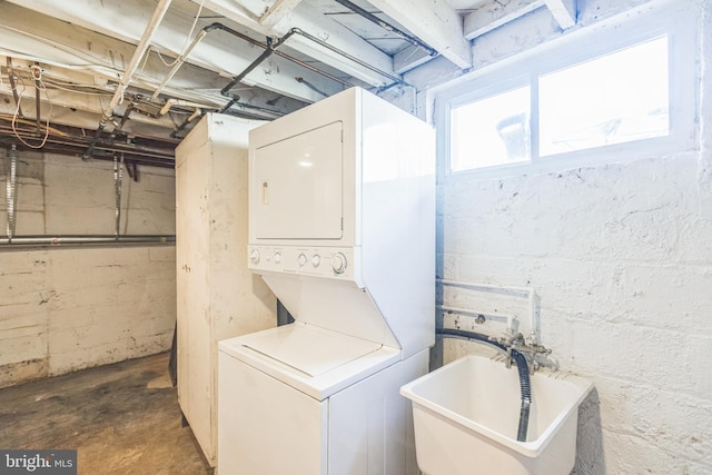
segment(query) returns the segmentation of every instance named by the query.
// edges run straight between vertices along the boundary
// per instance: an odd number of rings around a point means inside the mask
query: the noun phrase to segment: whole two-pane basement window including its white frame
[[[580,32],[442,88],[444,171],[525,172],[692,149],[696,22],[684,12],[641,22]]]

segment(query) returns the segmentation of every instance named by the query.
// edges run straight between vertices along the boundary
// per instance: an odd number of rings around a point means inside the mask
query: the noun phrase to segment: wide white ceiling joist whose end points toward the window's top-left
[[[463,37],[463,19],[446,1],[369,0],[419,40],[459,68],[472,66],[469,42]]]

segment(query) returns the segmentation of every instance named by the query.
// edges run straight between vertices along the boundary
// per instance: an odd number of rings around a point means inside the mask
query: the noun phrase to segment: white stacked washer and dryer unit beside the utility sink
[[[352,88],[250,130],[248,254],[295,321],[219,344],[219,475],[418,474],[433,129]]]

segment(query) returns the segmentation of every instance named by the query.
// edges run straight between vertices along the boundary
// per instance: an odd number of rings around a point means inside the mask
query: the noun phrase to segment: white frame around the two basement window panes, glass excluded
[[[477,174],[503,177],[554,171],[613,161],[661,157],[696,148],[695,122],[699,80],[698,16],[694,2],[678,1],[640,14],[625,14],[602,26],[591,26],[541,44],[530,51],[486,66],[432,91],[441,176]],[[669,44],[669,120],[664,137],[613,144],[564,154],[538,156],[538,77],[662,36]],[[531,103],[531,161],[454,171],[451,169],[451,112],[453,108],[528,85]]]

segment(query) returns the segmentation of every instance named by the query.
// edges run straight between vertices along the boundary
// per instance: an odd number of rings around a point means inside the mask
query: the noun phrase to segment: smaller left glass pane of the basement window
[[[452,110],[453,171],[530,160],[530,87]]]

